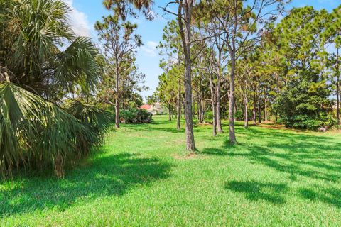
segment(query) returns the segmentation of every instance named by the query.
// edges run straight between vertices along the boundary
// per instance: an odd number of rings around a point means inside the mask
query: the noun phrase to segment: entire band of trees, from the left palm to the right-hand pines
[[[77,37],[60,0],[0,0],[0,172],[21,167],[65,174],[102,145],[114,116],[142,104],[143,45],[131,16],[153,20],[148,0],[105,0],[112,15],[97,21],[99,41]],[[236,143],[234,121],[275,121],[316,129],[340,123],[341,6],[284,11],[286,1],[169,1],[174,16],[158,45],[163,74],[151,100],[185,116],[187,150],[193,118],[212,121]],[[284,13],[280,20],[277,16]],[[123,112],[122,112],[123,111]],[[334,112],[335,111],[335,112]],[[148,114],[146,115],[148,116]],[[149,118],[147,119],[150,120]],[[147,121],[141,119],[141,121]],[[131,120],[131,121],[134,121]]]

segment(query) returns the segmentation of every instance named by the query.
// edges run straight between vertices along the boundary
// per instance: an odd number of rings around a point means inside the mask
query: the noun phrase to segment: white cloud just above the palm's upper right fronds
[[[81,11],[78,11],[73,6],[73,0],[63,0],[68,6],[70,6],[70,13],[68,15],[69,23],[73,31],[78,36],[91,37],[90,23],[87,21],[87,15]]]

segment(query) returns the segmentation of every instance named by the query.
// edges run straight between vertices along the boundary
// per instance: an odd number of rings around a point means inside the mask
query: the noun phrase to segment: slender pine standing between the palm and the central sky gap
[[[102,83],[104,98],[109,101],[108,95],[114,96],[116,128],[119,128],[119,109],[126,91],[124,86],[136,80],[132,79],[136,72],[134,51],[142,45],[141,37],[134,34],[136,28],[136,24],[120,21],[117,16],[107,16],[95,25],[106,62],[106,77]]]

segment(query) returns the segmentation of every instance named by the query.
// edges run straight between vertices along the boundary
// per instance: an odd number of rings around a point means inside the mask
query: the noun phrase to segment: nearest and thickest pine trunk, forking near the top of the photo
[[[178,24],[179,31],[183,43],[183,52],[185,55],[185,133],[186,133],[186,149],[195,150],[194,132],[193,132],[193,116],[192,116],[192,74],[190,59],[190,40],[191,40],[191,17],[193,3],[189,0],[183,0],[178,4]],[[184,13],[182,13],[184,12]],[[185,29],[183,23],[185,21]]]

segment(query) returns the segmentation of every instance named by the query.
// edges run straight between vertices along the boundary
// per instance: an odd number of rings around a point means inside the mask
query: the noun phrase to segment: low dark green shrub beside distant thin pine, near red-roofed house
[[[119,116],[122,123],[151,123],[153,114],[145,109],[122,109]]]

